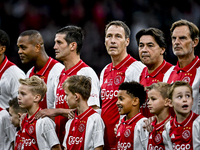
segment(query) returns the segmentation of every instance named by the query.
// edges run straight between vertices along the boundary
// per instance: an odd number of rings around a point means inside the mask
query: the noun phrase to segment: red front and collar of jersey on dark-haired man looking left
[[[66,108],[68,109],[69,106],[67,105],[65,101],[65,91],[62,88],[63,82],[70,76],[76,75],[77,72],[84,67],[88,67],[82,60],[80,60],[74,67],[61,72],[59,83],[56,91],[56,108]],[[55,123],[56,123],[56,133],[59,138],[60,143],[63,143],[63,139],[65,136],[65,124],[67,122],[67,118],[63,116],[57,116],[55,117]]]

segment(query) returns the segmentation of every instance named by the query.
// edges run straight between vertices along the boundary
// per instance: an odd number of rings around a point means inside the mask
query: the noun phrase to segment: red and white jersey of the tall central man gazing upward
[[[112,63],[104,67],[100,75],[102,112],[101,117],[105,123],[105,149],[116,148],[115,124],[120,115],[117,102],[119,85],[124,82],[139,82],[140,74],[145,65],[128,55],[118,65]]]

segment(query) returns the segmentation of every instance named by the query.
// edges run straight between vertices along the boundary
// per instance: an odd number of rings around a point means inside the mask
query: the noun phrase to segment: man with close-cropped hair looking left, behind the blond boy
[[[37,75],[47,84],[47,93],[40,102],[40,107],[54,108],[56,98],[56,79],[59,77],[64,65],[49,57],[44,48],[43,37],[36,30],[22,32],[17,40],[18,54],[23,64],[32,64],[33,67],[26,76]]]

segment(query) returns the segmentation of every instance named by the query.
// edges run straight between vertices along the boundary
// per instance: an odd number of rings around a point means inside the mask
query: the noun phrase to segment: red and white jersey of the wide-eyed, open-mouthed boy
[[[200,116],[191,111],[182,123],[178,123],[175,116],[166,124],[163,141],[170,150],[198,150],[200,149],[199,133]]]

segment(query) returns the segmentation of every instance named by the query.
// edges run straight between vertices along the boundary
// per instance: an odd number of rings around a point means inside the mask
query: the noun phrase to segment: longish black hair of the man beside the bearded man
[[[157,29],[157,28],[148,28],[148,29],[142,29],[140,30],[137,34],[136,34],[136,40],[137,40],[137,44],[139,45],[140,43],[140,38],[143,35],[151,35],[152,37],[154,37],[156,43],[163,48],[167,48],[167,43],[166,43],[166,39],[165,39],[165,34]]]

